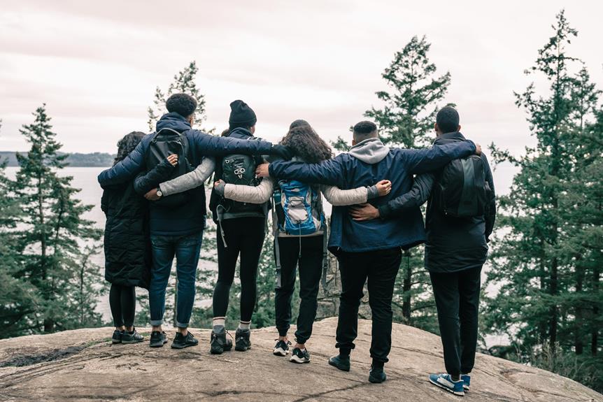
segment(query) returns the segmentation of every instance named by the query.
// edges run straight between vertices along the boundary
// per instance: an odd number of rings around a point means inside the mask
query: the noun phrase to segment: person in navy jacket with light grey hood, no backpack
[[[372,122],[359,122],[353,129],[353,147],[320,164],[298,161],[274,161],[260,166],[257,173],[281,179],[336,185],[341,189],[372,185],[386,178],[392,182],[387,196],[369,201],[378,207],[408,192],[413,174],[444,166],[459,157],[467,157],[479,148],[471,141],[434,146],[426,150],[389,148],[378,138]],[[358,308],[368,280],[369,306],[372,313],[370,382],[383,382],[392,336],[392,296],[402,260],[402,249],[425,241],[423,215],[419,207],[406,210],[396,219],[356,222],[348,207],[334,206],[331,216],[329,250],[339,261],[341,304],[336,330],[339,354],[329,364],[350,370],[350,351],[357,336]]]

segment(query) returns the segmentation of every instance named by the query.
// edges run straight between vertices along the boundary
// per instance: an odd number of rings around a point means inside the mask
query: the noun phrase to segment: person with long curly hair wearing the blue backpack
[[[332,150],[325,141],[316,134],[305,120],[295,120],[290,125],[288,133],[281,140],[281,145],[290,148],[297,157],[295,159],[308,163],[318,163],[332,158]],[[227,184],[222,180],[215,182],[214,190],[226,199],[246,203],[266,203],[275,195],[273,214],[274,226],[274,255],[277,271],[280,266],[280,286],[276,287],[275,309],[278,341],[273,353],[276,356],[286,356],[289,353],[288,331],[291,321],[291,301],[295,289],[295,277],[299,266],[299,315],[297,316],[297,331],[295,346],[290,361],[294,363],[309,363],[310,354],[306,342],[312,334],[312,326],[318,308],[317,296],[322,277],[322,268],[326,258],[325,218],[322,211],[322,198],[325,195],[333,205],[353,205],[365,203],[367,199],[383,196],[390,192],[391,183],[382,180],[370,187],[341,190],[337,187],[311,185],[313,194],[318,194],[312,205],[312,213],[316,215],[315,222],[320,222],[316,231],[311,234],[296,234],[285,231],[285,196],[281,196],[281,186],[284,182],[275,182],[265,178],[257,187]],[[278,203],[278,197],[281,203]]]

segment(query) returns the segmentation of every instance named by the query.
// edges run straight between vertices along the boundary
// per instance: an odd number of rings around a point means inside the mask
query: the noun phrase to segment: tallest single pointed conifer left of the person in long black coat
[[[66,165],[66,155],[58,153],[62,145],[52,132],[45,105],[34,116],[34,123],[20,130],[31,149],[26,155],[17,154],[20,170],[12,189],[22,210],[16,250],[19,275],[31,282],[40,301],[36,312],[24,320],[32,331],[52,332],[77,326],[71,307],[77,304],[73,288],[78,284],[81,248],[98,241],[100,231],[82,218],[92,206],[76,198],[80,190],[71,187],[72,178],[58,174]],[[94,306],[90,298],[79,307],[86,309],[87,316],[99,317]]]

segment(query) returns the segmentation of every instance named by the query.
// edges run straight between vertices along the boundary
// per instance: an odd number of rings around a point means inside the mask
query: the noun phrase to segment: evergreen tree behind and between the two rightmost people
[[[425,36],[420,39],[413,36],[402,50],[395,53],[390,66],[382,74],[390,90],[376,92],[383,103],[382,108],[372,107],[364,113],[376,122],[381,141],[385,144],[422,148],[433,142],[437,103],[444,99],[451,75],[436,75],[436,65],[427,55],[430,46]],[[341,149],[343,143],[343,139],[338,138],[333,145]],[[435,303],[423,264],[423,252],[424,247],[420,246],[404,255],[402,276],[397,279],[392,305],[396,320],[437,332]]]

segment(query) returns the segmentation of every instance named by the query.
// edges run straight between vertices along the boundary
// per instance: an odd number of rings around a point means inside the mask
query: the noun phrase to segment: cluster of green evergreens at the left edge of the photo
[[[15,303],[1,305],[10,329],[3,336],[101,323],[95,311],[101,292],[99,268],[90,264],[100,231],[82,218],[92,206],[76,198],[79,190],[71,187],[71,177],[58,174],[66,155],[58,153],[61,144],[55,140],[45,106],[34,116],[34,123],[21,129],[31,149],[17,154],[21,167],[16,179],[0,180],[6,191],[1,202],[13,211],[0,221],[0,234],[6,239],[1,286],[7,287],[2,293],[9,301],[15,295]]]

